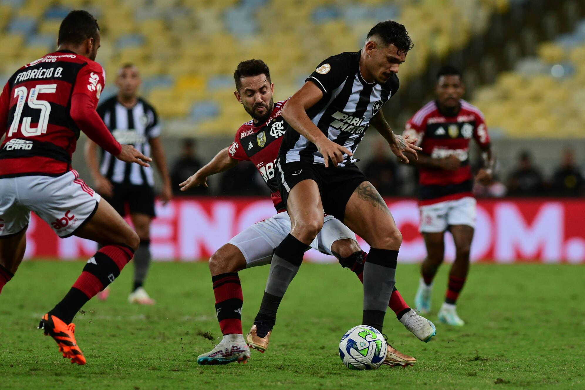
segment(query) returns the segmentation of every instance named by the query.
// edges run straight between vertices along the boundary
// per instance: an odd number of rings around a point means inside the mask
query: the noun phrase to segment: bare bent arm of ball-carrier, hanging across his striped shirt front
[[[305,85],[283,107],[282,116],[293,129],[315,144],[325,160],[325,167],[329,167],[329,159],[337,166],[343,161],[343,154],[353,156],[353,153],[329,140],[325,134],[309,119],[307,110],[314,106],[323,97],[323,92],[314,82],[307,81]]]

